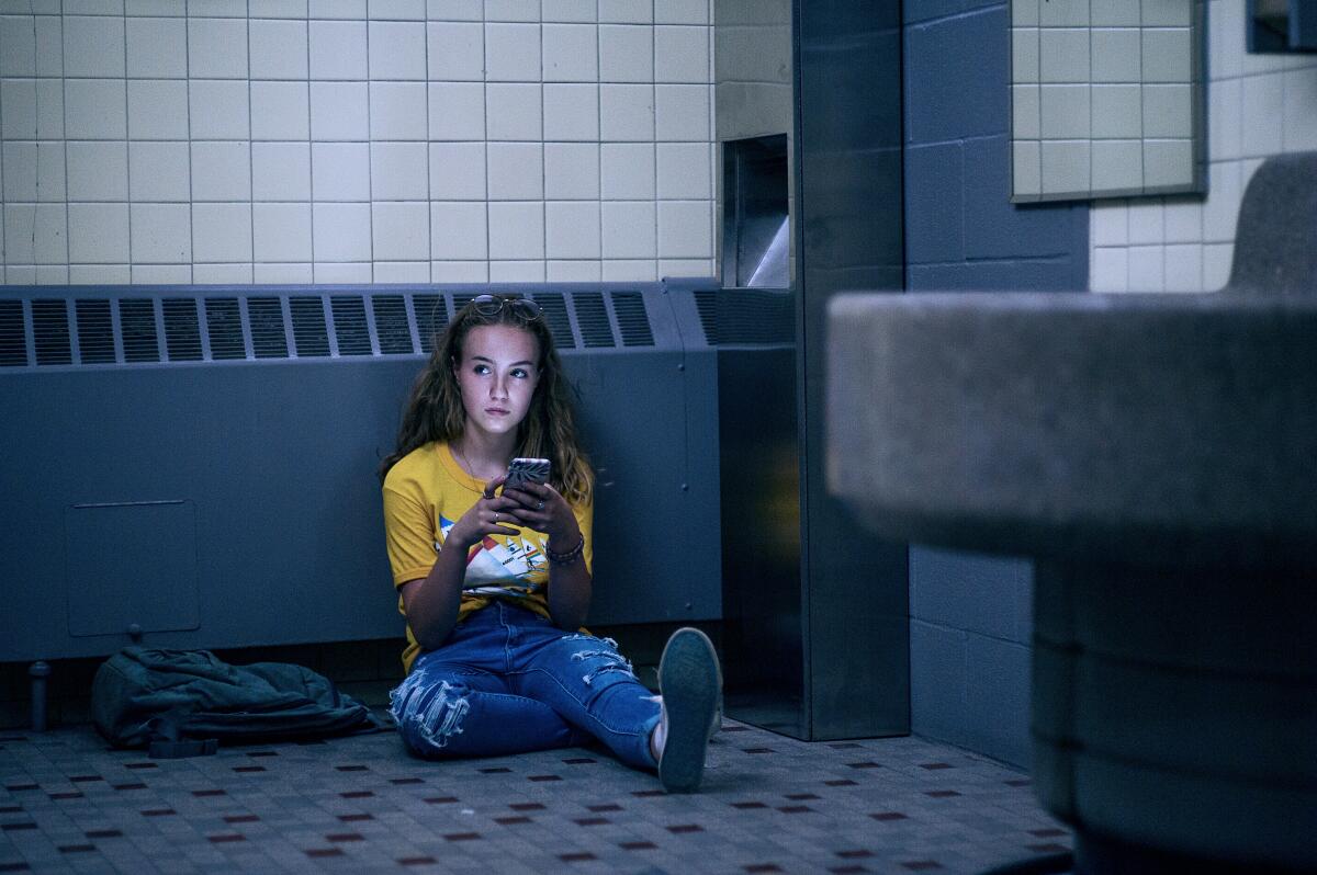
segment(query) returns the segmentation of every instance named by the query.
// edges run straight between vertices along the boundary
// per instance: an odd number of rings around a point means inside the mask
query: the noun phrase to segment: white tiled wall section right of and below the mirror
[[[1267,155],[1317,149],[1317,57],[1247,54],[1243,24],[1242,3],[1208,4],[1206,197],[1094,201],[1093,291],[1221,288],[1252,171]]]

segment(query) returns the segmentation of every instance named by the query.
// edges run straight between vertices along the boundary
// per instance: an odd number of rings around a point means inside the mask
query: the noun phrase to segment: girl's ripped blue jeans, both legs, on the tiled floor
[[[558,629],[494,601],[423,650],[390,693],[398,732],[417,757],[493,757],[603,742],[653,770],[660,705],[616,642]]]

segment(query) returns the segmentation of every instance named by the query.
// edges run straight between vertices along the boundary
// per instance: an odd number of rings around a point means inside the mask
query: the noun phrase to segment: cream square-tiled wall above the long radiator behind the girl
[[[0,280],[707,276],[711,43],[711,0],[4,7]]]

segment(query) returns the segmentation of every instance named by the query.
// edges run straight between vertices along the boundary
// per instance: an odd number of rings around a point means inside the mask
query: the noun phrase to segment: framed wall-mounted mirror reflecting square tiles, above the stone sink
[[[1011,0],[1011,201],[1206,188],[1204,0]]]

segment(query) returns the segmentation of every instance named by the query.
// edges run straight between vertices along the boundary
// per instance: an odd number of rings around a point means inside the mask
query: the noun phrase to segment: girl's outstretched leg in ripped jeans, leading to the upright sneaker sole
[[[658,722],[658,700],[636,680],[616,642],[562,633],[549,624],[535,622],[531,629],[523,630],[524,643],[514,654],[512,689],[548,703],[628,766],[653,770],[649,734]]]

